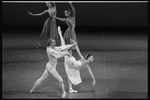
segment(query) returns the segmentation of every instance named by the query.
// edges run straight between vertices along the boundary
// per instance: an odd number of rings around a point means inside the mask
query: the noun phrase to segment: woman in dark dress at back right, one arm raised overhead
[[[71,10],[65,10],[65,16],[67,18],[58,18],[56,16],[52,16],[60,21],[64,21],[67,25],[68,25],[68,29],[65,31],[64,34],[64,40],[66,42],[66,44],[70,44],[70,39],[73,39],[74,41],[77,42],[77,38],[76,38],[76,33],[75,33],[75,17],[76,17],[76,12],[75,12],[75,8],[73,7],[72,3],[69,2],[70,6],[71,6]],[[69,52],[72,54],[72,50],[74,50],[75,48],[73,47]]]

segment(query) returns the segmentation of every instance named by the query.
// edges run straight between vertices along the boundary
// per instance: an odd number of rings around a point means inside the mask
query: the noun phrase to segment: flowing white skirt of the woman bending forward
[[[65,56],[65,71],[68,76],[68,79],[71,81],[73,85],[78,85],[82,82],[80,77],[80,70],[74,69],[70,63],[70,58]]]

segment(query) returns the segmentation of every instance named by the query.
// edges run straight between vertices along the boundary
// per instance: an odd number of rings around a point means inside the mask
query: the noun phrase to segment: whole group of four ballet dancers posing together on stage
[[[46,52],[48,55],[48,63],[46,64],[45,71],[43,72],[42,76],[35,82],[34,86],[30,90],[30,93],[34,93],[36,91],[36,88],[41,84],[41,82],[48,77],[48,75],[53,75],[59,82],[59,85],[62,90],[61,97],[66,96],[65,86],[63,83],[62,77],[59,75],[59,73],[56,71],[57,66],[57,59],[64,57],[64,67],[65,72],[68,77],[68,84],[69,84],[69,93],[78,92],[77,90],[74,90],[72,88],[73,85],[78,85],[82,82],[80,77],[80,69],[87,68],[92,79],[93,83],[92,85],[95,85],[95,77],[91,71],[91,68],[89,67],[89,63],[93,62],[94,57],[91,54],[87,54],[84,58],[80,52],[80,49],[77,44],[76,34],[75,34],[75,9],[71,2],[69,2],[72,11],[66,10],[65,15],[67,18],[58,18],[56,17],[56,5],[51,2],[46,2],[48,10],[45,10],[44,12],[40,14],[32,14],[31,15],[42,15],[46,12],[50,15],[50,17],[46,20],[44,23],[44,27],[42,30],[42,33],[39,37],[39,41],[37,42],[37,48],[40,46],[40,40],[41,37],[46,35],[48,39],[48,46],[46,48]],[[65,31],[64,37],[62,36],[62,31],[60,26],[57,27],[56,20],[59,19],[61,21],[66,22],[68,25],[68,29]],[[61,46],[55,46],[56,40],[59,35]],[[76,60],[76,58],[72,54],[72,50],[76,50],[80,59]]]

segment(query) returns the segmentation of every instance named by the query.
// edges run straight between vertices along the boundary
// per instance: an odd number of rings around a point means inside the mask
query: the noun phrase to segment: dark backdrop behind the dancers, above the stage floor
[[[56,3],[57,16],[65,18],[68,3]],[[77,31],[147,31],[148,3],[73,3]],[[31,16],[47,9],[45,3],[2,3],[3,30],[41,31],[48,14]],[[64,31],[67,25],[57,20]]]

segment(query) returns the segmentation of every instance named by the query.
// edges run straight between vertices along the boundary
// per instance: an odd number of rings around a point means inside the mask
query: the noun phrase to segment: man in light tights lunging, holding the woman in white
[[[50,75],[50,73],[58,80],[59,85],[62,90],[62,95],[61,97],[66,96],[65,92],[65,87],[63,83],[62,77],[58,74],[56,71],[56,66],[57,66],[57,59],[61,58],[65,55],[70,55],[69,53],[66,52],[69,48],[72,46],[76,45],[76,43],[71,44],[71,45],[63,45],[63,46],[55,46],[56,41],[54,38],[50,38],[48,40],[48,46],[46,48],[47,55],[48,55],[48,63],[46,64],[46,68],[42,76],[35,82],[33,88],[30,90],[30,93],[34,93],[36,88],[41,84],[41,82]]]

